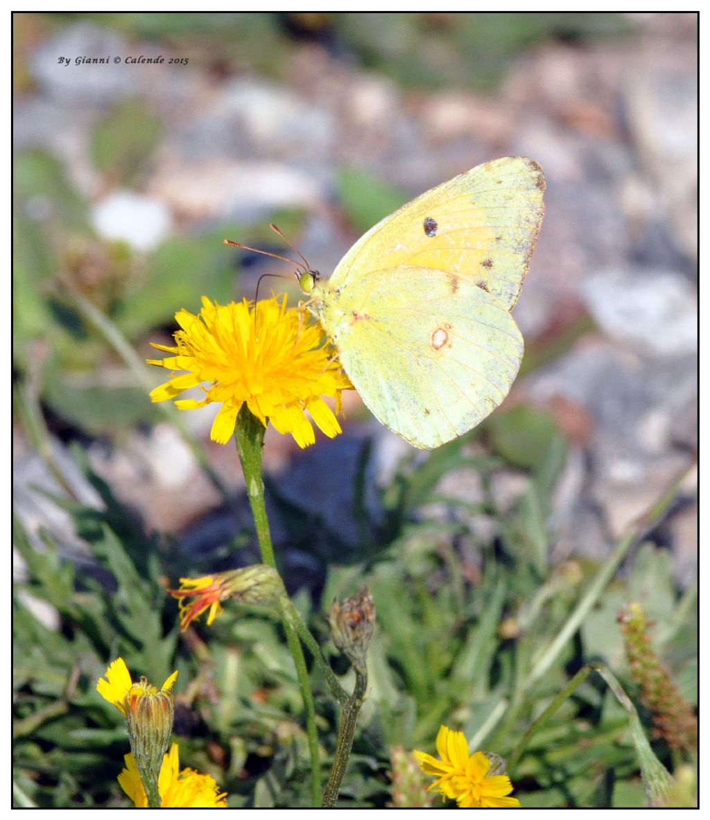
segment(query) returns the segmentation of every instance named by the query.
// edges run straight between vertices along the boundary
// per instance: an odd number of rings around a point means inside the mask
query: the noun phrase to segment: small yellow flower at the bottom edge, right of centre
[[[436,750],[440,760],[426,752],[414,750],[421,769],[438,777],[430,790],[438,790],[444,797],[456,800],[462,809],[505,808],[519,806],[520,800],[507,797],[512,783],[507,775],[489,775],[490,761],[483,752],[469,755],[466,737],[462,731],[439,728]]]

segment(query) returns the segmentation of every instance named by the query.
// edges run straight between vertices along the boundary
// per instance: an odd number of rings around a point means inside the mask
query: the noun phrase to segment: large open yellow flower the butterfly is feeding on
[[[221,403],[211,432],[219,444],[230,440],[244,402],[264,426],[271,421],[280,433],[293,435],[299,447],[316,440],[306,410],[325,435],[333,438],[341,432],[321,396],[334,398],[339,412],[341,391],[352,385],[334,348],[322,344],[321,326],[308,321],[303,312],[287,310],[285,297],[280,302],[274,297],[264,299],[252,309],[246,299],[220,305],[203,296],[198,316],[180,310],[175,321],[182,328],[175,332],[175,347],[151,343],[172,355],[147,361],[188,373],[174,375],[153,389],[153,402],[174,399],[183,390],[207,382],[203,401],[180,399],[175,405],[190,410]]]

